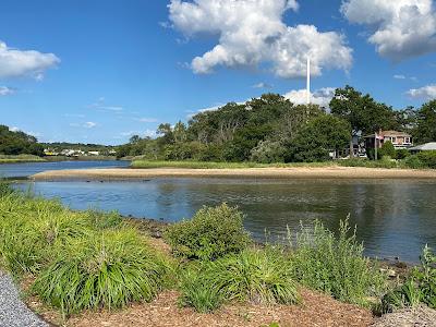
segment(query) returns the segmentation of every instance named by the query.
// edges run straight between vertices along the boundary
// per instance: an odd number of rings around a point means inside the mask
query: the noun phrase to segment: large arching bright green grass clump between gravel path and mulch
[[[132,229],[71,239],[33,290],[64,315],[150,301],[165,284],[165,262]]]

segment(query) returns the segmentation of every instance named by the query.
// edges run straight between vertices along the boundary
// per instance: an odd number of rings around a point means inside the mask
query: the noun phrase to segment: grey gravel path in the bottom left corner
[[[0,327],[48,327],[21,301],[12,279],[1,271]]]

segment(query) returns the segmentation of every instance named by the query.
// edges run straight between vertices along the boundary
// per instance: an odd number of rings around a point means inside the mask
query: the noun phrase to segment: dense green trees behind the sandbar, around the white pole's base
[[[265,164],[323,161],[330,153],[347,148],[353,136],[379,129],[409,132],[415,143],[436,141],[436,100],[419,109],[395,110],[346,86],[336,89],[327,110],[265,94],[245,104],[229,102],[199,112],[187,123],[162,123],[156,138],[134,135],[118,148],[118,156]]]

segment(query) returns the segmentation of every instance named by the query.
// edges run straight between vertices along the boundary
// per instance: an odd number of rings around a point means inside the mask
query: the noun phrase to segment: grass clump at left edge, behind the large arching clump
[[[37,274],[70,238],[84,237],[92,226],[87,217],[20,192],[0,198],[0,261],[15,277]]]

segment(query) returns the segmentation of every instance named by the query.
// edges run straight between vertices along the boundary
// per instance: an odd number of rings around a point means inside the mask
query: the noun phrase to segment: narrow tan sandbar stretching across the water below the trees
[[[322,168],[241,168],[241,169],[83,169],[56,170],[32,179],[57,180],[137,180],[148,178],[253,178],[253,179],[436,179],[436,170],[378,169],[362,167]]]

